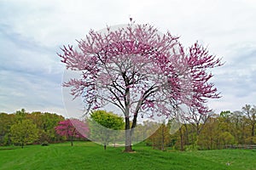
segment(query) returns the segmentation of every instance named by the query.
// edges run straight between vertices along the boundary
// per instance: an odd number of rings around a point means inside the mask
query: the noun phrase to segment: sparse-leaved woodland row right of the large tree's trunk
[[[154,149],[214,150],[230,144],[256,144],[256,106],[245,105],[241,111],[221,111],[185,120],[171,134],[172,121],[161,123],[145,142]]]

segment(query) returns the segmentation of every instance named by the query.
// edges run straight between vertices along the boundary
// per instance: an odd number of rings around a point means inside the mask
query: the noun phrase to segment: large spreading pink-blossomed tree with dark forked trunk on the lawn
[[[205,114],[207,99],[220,97],[207,70],[222,64],[198,42],[185,49],[170,32],[134,23],[90,31],[78,42],[61,48],[67,69],[81,71],[63,86],[84,99],[86,113],[106,105],[123,112],[127,152],[138,116],[172,117],[179,105]]]

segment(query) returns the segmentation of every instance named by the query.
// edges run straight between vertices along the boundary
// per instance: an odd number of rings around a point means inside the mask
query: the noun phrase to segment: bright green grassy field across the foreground
[[[0,169],[256,169],[256,150],[160,151],[143,144],[134,149],[103,150],[91,142],[0,147]]]

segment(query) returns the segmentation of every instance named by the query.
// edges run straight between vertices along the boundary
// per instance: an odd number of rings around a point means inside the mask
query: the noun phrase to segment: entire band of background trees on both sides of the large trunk
[[[245,105],[241,111],[222,111],[220,114],[192,113],[176,129],[173,129],[175,122],[172,119],[166,122],[139,123],[132,141],[144,141],[158,150],[166,150],[166,147],[176,150],[214,150],[230,144],[256,144],[255,105]],[[92,139],[103,144],[106,149],[108,144],[119,143],[124,138],[124,134],[116,131],[124,130],[124,123],[122,117],[107,111],[92,111],[90,119],[84,123],[65,119],[55,113],[28,113],[22,109],[14,114],[0,113],[0,145],[23,146],[65,140],[70,140],[73,145],[74,139]],[[154,129],[157,130],[152,132]],[[20,138],[20,133],[26,135]]]

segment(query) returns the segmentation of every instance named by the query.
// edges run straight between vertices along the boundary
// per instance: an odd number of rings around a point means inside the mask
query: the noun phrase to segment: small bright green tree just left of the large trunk
[[[104,150],[108,143],[115,140],[125,127],[124,119],[107,111],[92,111],[90,113],[90,139],[102,141]]]

